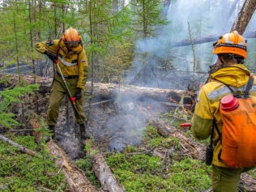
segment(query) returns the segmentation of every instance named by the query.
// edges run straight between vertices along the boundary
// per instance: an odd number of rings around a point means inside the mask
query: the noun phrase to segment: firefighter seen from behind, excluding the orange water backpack
[[[218,55],[218,61],[216,66],[212,68],[208,83],[199,92],[191,120],[191,131],[197,139],[205,140],[210,137],[211,127],[214,127],[212,188],[215,192],[234,192],[238,190],[241,172],[252,168],[229,168],[221,161],[222,146],[219,135],[223,123],[219,106],[222,96],[230,94],[229,89],[226,89],[224,84],[243,91],[251,72],[243,65],[244,59],[247,57],[246,40],[236,30],[222,35],[213,46],[213,54]],[[255,88],[254,76],[252,90]],[[256,97],[255,92],[251,91],[250,93],[251,96]]]

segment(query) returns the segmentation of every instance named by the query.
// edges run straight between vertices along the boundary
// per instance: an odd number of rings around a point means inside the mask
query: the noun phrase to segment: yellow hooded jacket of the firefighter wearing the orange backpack
[[[196,108],[191,120],[191,131],[194,137],[199,140],[205,140],[210,137],[213,119],[215,119],[218,129],[221,132],[222,120],[219,114],[220,100],[223,96],[232,94],[229,88],[224,84],[230,85],[233,90],[243,93],[242,91],[245,88],[244,85],[246,85],[249,80],[249,75],[250,71],[243,64],[226,66],[210,75],[210,82],[205,84],[199,92]],[[224,82],[224,84],[221,82]],[[250,95],[256,97],[255,76]],[[213,144],[215,147],[213,151],[213,165],[227,167],[220,159],[221,142],[216,128],[214,129]]]

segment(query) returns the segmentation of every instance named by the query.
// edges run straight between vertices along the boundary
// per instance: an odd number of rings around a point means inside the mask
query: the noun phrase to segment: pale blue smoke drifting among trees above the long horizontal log
[[[187,88],[193,76],[204,82],[208,66],[216,61],[216,55],[212,54],[214,41],[194,44],[193,48],[191,45],[177,48],[173,44],[189,41],[190,35],[193,39],[229,32],[243,3],[237,0],[172,1],[166,18],[169,24],[159,27],[156,37],[136,42],[133,71],[127,80],[132,85],[177,89]],[[255,23],[254,14],[247,29],[255,29]],[[255,39],[248,41],[255,42]],[[193,74],[193,65],[199,73]]]

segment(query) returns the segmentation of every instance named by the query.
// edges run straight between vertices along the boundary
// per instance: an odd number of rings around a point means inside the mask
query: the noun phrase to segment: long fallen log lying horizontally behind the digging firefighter
[[[18,82],[18,76],[15,74],[0,73],[0,79],[9,79],[10,85]],[[24,79],[30,84],[34,83],[33,76],[24,76]],[[50,93],[52,79],[45,77],[37,77],[37,84],[40,85],[39,92]],[[86,87],[91,87],[91,82],[87,82]],[[101,84],[93,82],[93,98],[98,101],[108,99],[120,99],[121,101],[134,100],[136,101],[161,101],[179,102],[182,96],[184,104],[191,104],[190,92],[186,90],[171,90],[162,88],[149,88],[149,87],[138,87],[133,85],[118,85],[118,84]]]

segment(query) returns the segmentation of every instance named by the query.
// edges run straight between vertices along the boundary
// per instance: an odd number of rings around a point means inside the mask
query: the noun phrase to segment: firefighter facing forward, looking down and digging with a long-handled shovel
[[[83,89],[88,79],[88,61],[83,48],[79,32],[69,27],[62,38],[53,41],[37,43],[35,49],[41,54],[48,55],[52,61],[58,60],[61,71],[55,67],[55,75],[51,89],[51,97],[47,112],[47,123],[49,129],[55,133],[55,124],[59,115],[59,106],[65,94],[66,87],[63,83],[63,74],[69,91],[76,98],[77,112],[75,111],[76,121],[80,127],[81,138],[88,138],[85,131],[87,116],[82,106],[84,101]],[[54,138],[54,134],[52,138]]]

